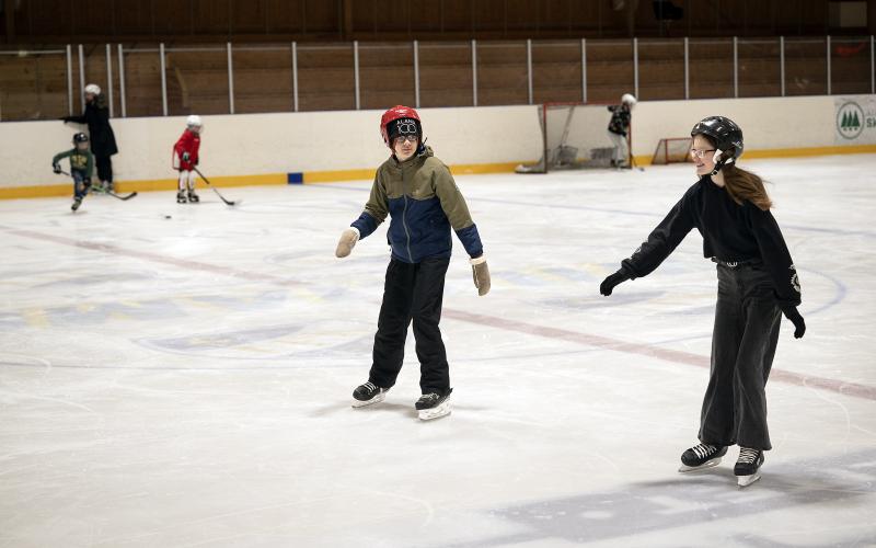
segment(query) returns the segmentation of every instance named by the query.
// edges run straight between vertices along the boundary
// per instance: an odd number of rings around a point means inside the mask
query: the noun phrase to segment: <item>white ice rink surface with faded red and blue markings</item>
[[[771,181],[808,327],[783,320],[746,490],[735,447],[676,471],[716,293],[699,233],[598,293],[690,165],[458,176],[493,290],[454,240],[453,412],[428,423],[413,335],[387,401],[349,404],[387,225],[333,253],[370,182],[0,202],[0,546],[876,545],[876,156],[744,167]]]

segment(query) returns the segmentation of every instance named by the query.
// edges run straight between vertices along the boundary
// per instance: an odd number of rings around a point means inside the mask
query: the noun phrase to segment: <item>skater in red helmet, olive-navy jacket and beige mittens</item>
[[[374,335],[368,381],[353,392],[354,407],[383,401],[404,359],[407,327],[414,324],[419,386],[415,407],[423,420],[450,412],[450,369],[438,323],[445,276],[450,263],[450,229],[465,248],[479,295],[489,292],[489,271],[477,227],[450,170],[423,142],[419,115],[393,106],[380,119],[383,142],[392,156],[377,170],[365,212],[341,235],[335,254],[347,256],[356,242],[373,232],[387,215],[392,256]]]

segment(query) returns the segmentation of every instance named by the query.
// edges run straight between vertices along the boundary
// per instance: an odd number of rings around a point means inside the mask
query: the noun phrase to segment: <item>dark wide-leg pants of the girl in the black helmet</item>
[[[712,368],[703,399],[700,441],[771,449],[766,378],[779,341],[781,311],[759,264],[718,263]]]

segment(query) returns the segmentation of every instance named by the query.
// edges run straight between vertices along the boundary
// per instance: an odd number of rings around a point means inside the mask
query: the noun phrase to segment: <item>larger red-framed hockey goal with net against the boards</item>
[[[608,104],[544,103],[539,105],[542,150],[534,163],[521,163],[518,173],[609,168],[614,144],[608,135],[611,112]],[[630,144],[623,150],[629,165]]]

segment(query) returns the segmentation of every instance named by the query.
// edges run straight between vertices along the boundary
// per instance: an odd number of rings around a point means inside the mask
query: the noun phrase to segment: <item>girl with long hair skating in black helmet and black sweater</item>
[[[806,331],[797,311],[800,286],[763,181],[736,165],[742,130],[729,118],[710,116],[691,136],[700,180],[599,290],[608,296],[621,282],[648,275],[694,227],[703,236],[703,255],[717,263],[718,276],[712,368],[701,443],[681,455],[679,471],[715,466],[727,446],[738,444],[734,472],[745,487],[760,478],[763,452],[772,448],[764,385],[781,313],[794,323],[795,338]]]

